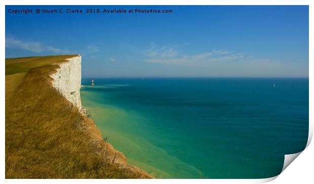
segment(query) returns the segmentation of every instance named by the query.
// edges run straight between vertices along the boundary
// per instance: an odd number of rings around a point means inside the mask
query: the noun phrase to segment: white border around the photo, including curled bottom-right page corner
[[[22,0],[2,0],[0,1],[1,4],[1,18],[0,18],[0,30],[2,36],[0,37],[1,42],[1,56],[2,56],[2,64],[0,66],[0,72],[2,73],[2,77],[0,80],[3,89],[5,89],[5,5],[309,5],[309,112],[313,112],[313,98],[312,94],[314,94],[313,90],[313,72],[311,72],[313,68],[313,3],[309,0],[183,0],[183,1],[173,1],[173,0],[150,0],[150,1],[143,1],[143,0],[115,0],[115,1],[97,1],[97,0],[88,0],[88,1],[66,1],[66,0],[54,0],[54,1],[40,1],[40,0],[29,0],[29,1],[22,1]],[[5,90],[0,91],[1,98],[0,98],[0,117],[2,119],[2,126],[1,126],[1,143],[2,143],[2,152],[1,152],[1,177],[7,183],[55,183],[55,179],[50,180],[41,180],[41,179],[5,179]],[[313,135],[313,124],[312,124],[313,116],[309,113],[309,139],[307,142],[307,146],[309,145],[312,135]],[[292,154],[286,156],[285,158],[295,159],[296,155]],[[278,179],[272,181],[274,183],[293,183],[293,182],[300,182],[300,183],[310,183],[312,181],[312,168],[313,168],[313,158],[314,149],[313,146],[309,146],[306,148],[305,151],[301,154],[301,157],[298,157],[296,161],[292,163],[293,167],[288,167],[283,174],[280,174]],[[290,162],[289,160],[285,159],[285,162]],[[289,165],[289,164],[288,164]],[[284,170],[284,169],[283,169]],[[276,176],[277,177],[277,176]],[[133,179],[133,180],[123,180],[123,179],[97,179],[97,180],[90,180],[90,179],[60,179],[58,182],[70,182],[70,183],[90,183],[90,182],[97,182],[97,183],[164,183],[164,182],[174,182],[174,183],[191,183],[191,182],[198,182],[198,183],[260,183],[260,182],[268,182],[276,177],[266,178],[266,179]]]

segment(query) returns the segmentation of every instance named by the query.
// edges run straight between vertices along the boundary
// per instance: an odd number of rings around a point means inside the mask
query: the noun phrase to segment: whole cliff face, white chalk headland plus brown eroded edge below
[[[81,56],[74,56],[65,59],[68,62],[62,62],[59,64],[60,68],[56,69],[56,72],[50,75],[53,79],[52,86],[56,88],[63,97],[70,101],[78,109],[82,109],[81,103]],[[81,116],[84,116],[80,113]],[[105,159],[104,162],[116,163],[121,169],[124,169],[126,173],[132,175],[137,174],[135,178],[153,178],[145,171],[127,164],[125,155],[113,148],[113,146],[105,140],[103,140],[100,131],[95,126],[95,123],[84,116],[84,121],[76,126],[81,130],[84,130],[91,138],[91,144],[97,149],[97,155]]]

